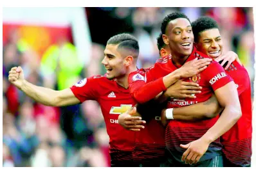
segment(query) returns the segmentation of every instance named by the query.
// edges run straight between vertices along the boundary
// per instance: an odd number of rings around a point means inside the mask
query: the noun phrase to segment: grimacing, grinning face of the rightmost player
[[[197,49],[214,60],[223,52],[223,42],[219,29],[207,29],[199,33]]]

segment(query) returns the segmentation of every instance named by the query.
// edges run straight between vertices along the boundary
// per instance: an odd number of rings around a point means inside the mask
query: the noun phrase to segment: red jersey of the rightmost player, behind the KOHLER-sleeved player
[[[226,158],[235,165],[248,166],[251,163],[251,85],[247,70],[237,61],[226,70],[235,84],[239,94],[242,117],[233,127],[221,136],[223,152]]]

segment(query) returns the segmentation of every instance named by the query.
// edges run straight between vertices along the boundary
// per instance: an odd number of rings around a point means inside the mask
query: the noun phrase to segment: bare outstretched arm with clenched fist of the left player
[[[22,90],[26,95],[46,106],[68,106],[80,102],[70,88],[57,91],[29,83],[24,79],[21,67],[13,67],[9,72],[8,79],[10,83]]]

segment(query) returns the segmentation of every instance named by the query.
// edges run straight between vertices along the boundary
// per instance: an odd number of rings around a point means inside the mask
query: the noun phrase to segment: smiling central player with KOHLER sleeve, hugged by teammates
[[[167,15],[161,24],[161,31],[163,40],[165,44],[169,45],[172,56],[166,56],[156,61],[149,68],[146,74],[147,84],[145,81],[134,80],[135,73],[129,76],[130,92],[136,101],[142,103],[165,91],[158,91],[156,95],[152,95],[151,90],[155,87],[152,85],[154,81],[159,81],[170,72],[177,71],[187,61],[195,58],[199,60],[209,58],[193,46],[192,27],[190,20],[184,14],[171,13]],[[219,136],[228,131],[241,117],[239,98],[237,93],[233,92],[236,90],[235,84],[231,77],[226,75],[223,67],[215,61],[212,61],[203,72],[190,78],[184,78],[184,81],[198,83],[203,87],[202,92],[196,94],[194,99],[171,98],[168,108],[183,107],[206,101],[212,96],[213,90],[224,110],[219,119],[215,117],[200,122],[170,120],[165,133],[165,143],[170,155],[169,162],[171,166],[189,166],[185,162],[191,165],[196,163],[192,166],[223,166]],[[142,91],[145,91],[143,95]],[[181,145],[181,143],[186,145]]]

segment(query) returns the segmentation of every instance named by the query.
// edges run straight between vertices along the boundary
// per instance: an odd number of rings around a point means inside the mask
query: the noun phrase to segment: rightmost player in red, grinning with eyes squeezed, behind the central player
[[[192,22],[197,49],[214,60],[223,54],[223,42],[217,22],[211,17],[200,17]],[[246,68],[237,61],[228,67],[239,93],[242,117],[221,136],[224,166],[250,166],[251,164],[251,85]]]

